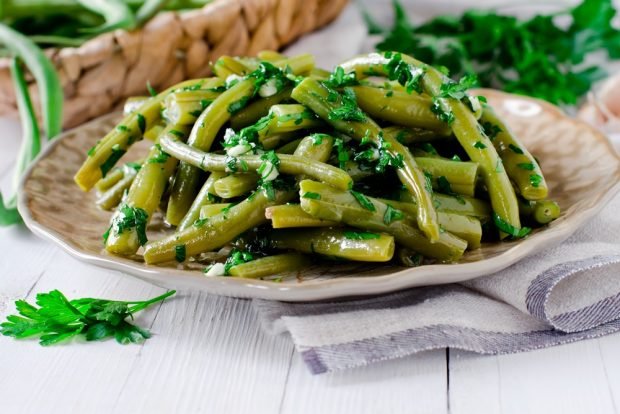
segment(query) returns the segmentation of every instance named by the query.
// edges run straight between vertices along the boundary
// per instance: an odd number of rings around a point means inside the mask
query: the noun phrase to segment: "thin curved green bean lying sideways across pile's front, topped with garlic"
[[[263,164],[263,160],[258,155],[230,158],[225,155],[205,153],[170,136],[161,140],[161,146],[172,156],[204,171],[234,172],[231,170],[233,168],[235,171],[249,172],[258,170]],[[353,183],[346,172],[329,164],[288,154],[279,154],[278,158],[280,159],[279,171],[282,174],[304,174],[341,189],[348,189]]]

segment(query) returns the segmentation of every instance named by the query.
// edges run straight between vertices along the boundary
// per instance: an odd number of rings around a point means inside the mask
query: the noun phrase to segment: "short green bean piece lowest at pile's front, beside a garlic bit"
[[[231,276],[257,279],[260,277],[294,272],[310,265],[310,260],[298,253],[284,253],[232,266]]]

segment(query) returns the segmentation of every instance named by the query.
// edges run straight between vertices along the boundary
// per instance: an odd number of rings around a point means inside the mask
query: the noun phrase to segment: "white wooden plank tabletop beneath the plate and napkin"
[[[19,144],[0,119],[0,188]],[[0,319],[19,298],[149,298],[163,289],[74,260],[23,227],[0,228]],[[616,413],[620,335],[536,352],[438,350],[311,376],[286,336],[261,331],[245,300],[179,292],[137,323],[143,345],[49,348],[0,337],[2,413]]]

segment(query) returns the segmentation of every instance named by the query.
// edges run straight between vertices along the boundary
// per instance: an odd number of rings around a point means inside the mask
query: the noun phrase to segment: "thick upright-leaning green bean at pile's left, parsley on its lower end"
[[[188,129],[182,125],[170,125],[162,133],[162,138],[168,135],[176,136],[171,131],[187,134]],[[140,234],[139,226],[145,227],[153,216],[177,163],[178,160],[163,152],[159,144],[151,148],[146,161],[129,188],[123,205],[112,217],[110,231],[105,241],[108,252],[130,256],[146,242],[146,236]],[[138,215],[138,211],[143,213],[145,215],[142,218],[143,223],[138,223],[138,218],[135,217],[134,225],[127,225],[128,209],[131,209],[131,214],[135,216]]]

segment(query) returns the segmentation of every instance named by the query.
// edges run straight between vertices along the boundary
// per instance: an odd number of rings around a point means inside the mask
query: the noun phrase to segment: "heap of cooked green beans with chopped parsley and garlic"
[[[411,57],[327,72],[309,55],[262,52],[224,56],[214,73],[130,99],[89,151],[75,180],[114,210],[109,253],[143,246],[156,265],[227,251],[206,275],[248,278],[325,260],[453,263],[560,215],[538,161],[486,101]],[[143,138],[145,158],[115,167]],[[155,214],[176,231],[148,240]]]

